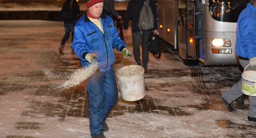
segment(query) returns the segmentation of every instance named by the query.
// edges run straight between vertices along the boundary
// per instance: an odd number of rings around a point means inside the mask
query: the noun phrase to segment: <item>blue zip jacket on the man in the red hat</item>
[[[75,25],[75,35],[71,44],[75,55],[80,59],[82,67],[90,63],[85,59],[88,53],[97,54],[95,59],[99,63],[101,72],[107,71],[115,63],[113,48],[122,52],[126,44],[118,36],[118,31],[113,25],[113,20],[106,12],[100,16],[104,34],[88,18],[86,12]]]

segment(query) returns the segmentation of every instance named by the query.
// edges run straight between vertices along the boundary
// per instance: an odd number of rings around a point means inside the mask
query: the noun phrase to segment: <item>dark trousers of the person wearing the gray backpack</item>
[[[148,41],[151,37],[151,31],[143,31],[132,33],[133,54],[137,64],[141,64],[140,45],[142,46],[142,66],[144,69],[148,67]]]

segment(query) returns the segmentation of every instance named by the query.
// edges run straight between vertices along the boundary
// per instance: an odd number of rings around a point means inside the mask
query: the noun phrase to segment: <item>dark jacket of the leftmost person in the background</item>
[[[70,9],[71,2],[72,2],[72,7]],[[75,22],[79,19],[79,15],[80,15],[80,9],[77,1],[66,0],[66,2],[64,3],[61,9],[61,15],[60,15],[61,19],[65,23],[75,24]]]

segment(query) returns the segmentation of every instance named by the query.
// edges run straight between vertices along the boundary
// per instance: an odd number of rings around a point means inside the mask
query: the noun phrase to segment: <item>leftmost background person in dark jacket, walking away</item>
[[[63,36],[60,47],[59,47],[59,53],[63,54],[63,49],[65,46],[66,41],[69,38],[70,32],[72,35],[71,43],[73,42],[74,37],[74,26],[77,21],[77,19],[80,16],[80,9],[79,5],[76,0],[66,0],[64,5],[61,9],[61,18],[64,21],[64,27],[65,27],[65,35]]]

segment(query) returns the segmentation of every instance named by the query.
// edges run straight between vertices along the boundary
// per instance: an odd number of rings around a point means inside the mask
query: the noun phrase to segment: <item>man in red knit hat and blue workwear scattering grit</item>
[[[122,52],[124,58],[130,52],[119,38],[112,18],[102,12],[103,0],[88,0],[87,7],[88,11],[75,25],[72,47],[82,67],[94,61],[99,63],[99,71],[87,80],[90,132],[92,138],[106,138],[103,134],[108,131],[106,116],[118,99],[113,48]]]

